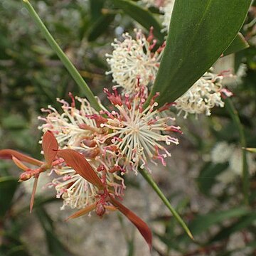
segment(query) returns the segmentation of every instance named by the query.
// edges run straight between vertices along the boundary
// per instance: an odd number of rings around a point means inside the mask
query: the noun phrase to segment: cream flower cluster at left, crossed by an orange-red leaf
[[[112,146],[100,143],[100,137],[107,132],[100,127],[101,122],[107,119],[97,113],[87,100],[76,97],[80,102],[80,110],[75,107],[75,99],[70,94],[73,102],[59,100],[63,103],[63,114],[59,114],[53,107],[49,107],[47,117],[40,117],[46,124],[41,125],[43,131],[50,130],[55,135],[60,149],[70,148],[80,152],[92,165],[92,168],[99,171],[106,171],[106,181],[112,187],[118,197],[124,194],[124,180],[117,175],[121,171],[114,157],[116,156]],[[95,117],[95,118],[94,118]],[[68,166],[57,166],[51,185],[57,191],[57,198],[63,198],[63,208],[84,208],[90,204],[95,196],[95,187],[91,186],[84,178]]]

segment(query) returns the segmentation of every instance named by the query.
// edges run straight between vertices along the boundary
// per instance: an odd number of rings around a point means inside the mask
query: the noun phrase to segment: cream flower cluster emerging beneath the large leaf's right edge
[[[231,92],[221,85],[223,74],[216,75],[207,72],[184,95],[176,100],[178,114],[184,112],[184,118],[190,114],[210,116],[210,110],[215,107],[224,107],[223,97],[230,97]]]

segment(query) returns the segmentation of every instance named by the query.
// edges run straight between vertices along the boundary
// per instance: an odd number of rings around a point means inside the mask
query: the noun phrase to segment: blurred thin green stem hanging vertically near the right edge
[[[240,118],[238,115],[238,111],[235,110],[235,106],[233,105],[232,100],[227,98],[225,100],[225,106],[230,114],[230,117],[233,119],[235,126],[238,129],[238,134],[240,137],[240,144],[242,147],[242,191],[244,194],[244,201],[245,204],[249,204],[249,174],[248,174],[248,165],[247,165],[247,152],[244,150],[246,148],[246,139],[245,139],[245,132],[240,122]]]

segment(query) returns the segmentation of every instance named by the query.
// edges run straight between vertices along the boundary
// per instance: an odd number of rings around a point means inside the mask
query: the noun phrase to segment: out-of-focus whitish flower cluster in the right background
[[[218,180],[223,183],[230,183],[236,176],[242,176],[242,149],[234,144],[218,142],[211,151],[211,160],[214,164],[228,162],[228,169],[218,175]],[[255,174],[256,161],[252,154],[247,153],[247,165],[250,175]]]

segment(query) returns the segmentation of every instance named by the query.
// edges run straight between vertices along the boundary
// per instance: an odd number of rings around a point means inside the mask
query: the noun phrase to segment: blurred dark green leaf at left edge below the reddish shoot
[[[16,178],[11,176],[0,178],[0,218],[3,218],[6,211],[9,210],[17,187],[18,180]]]

